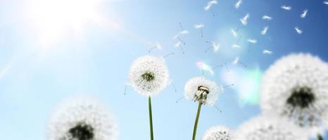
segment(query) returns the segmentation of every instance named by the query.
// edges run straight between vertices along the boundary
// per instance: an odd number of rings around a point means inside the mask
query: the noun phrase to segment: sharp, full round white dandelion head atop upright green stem
[[[165,60],[150,55],[137,58],[130,68],[129,76],[134,90],[147,97],[158,94],[169,83]]]

